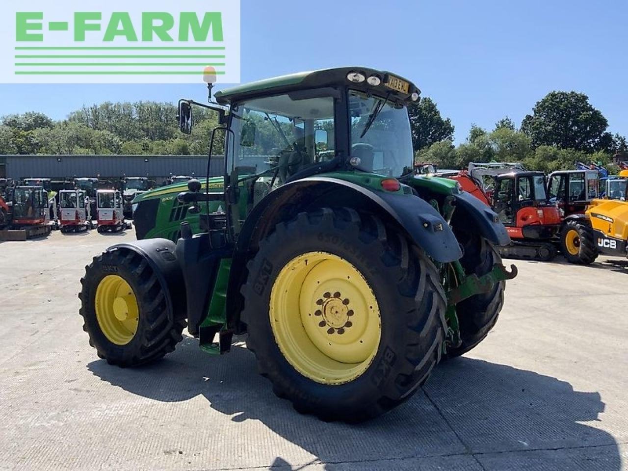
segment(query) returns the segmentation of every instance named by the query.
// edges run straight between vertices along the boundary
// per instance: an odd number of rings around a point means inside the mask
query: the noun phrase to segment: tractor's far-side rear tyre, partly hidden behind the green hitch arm
[[[456,237],[464,248],[464,255],[460,259],[460,263],[465,273],[483,276],[489,273],[495,264],[502,263],[495,247],[484,237],[467,232],[457,232]],[[506,282],[500,281],[489,293],[475,295],[458,303],[456,313],[462,344],[458,347],[448,347],[445,354],[446,359],[459,357],[474,349],[484,340],[497,322],[499,312],[504,306],[505,289]]]

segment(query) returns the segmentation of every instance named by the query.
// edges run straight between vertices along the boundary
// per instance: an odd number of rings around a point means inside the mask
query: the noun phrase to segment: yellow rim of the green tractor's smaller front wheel
[[[113,344],[126,345],[138,332],[138,300],[121,276],[107,275],[100,281],[95,310],[100,330]]]

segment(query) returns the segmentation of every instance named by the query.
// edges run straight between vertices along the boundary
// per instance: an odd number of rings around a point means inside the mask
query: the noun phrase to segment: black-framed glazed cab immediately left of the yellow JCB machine
[[[600,197],[597,170],[555,171],[548,176],[549,202],[560,208],[565,216],[583,214],[587,206]]]

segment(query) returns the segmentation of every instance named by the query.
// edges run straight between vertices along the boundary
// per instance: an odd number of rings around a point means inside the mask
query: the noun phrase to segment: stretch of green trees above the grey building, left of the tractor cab
[[[111,103],[83,107],[53,121],[40,112],[0,120],[0,154],[207,154],[215,113],[195,109],[192,134],[181,134],[170,103]]]

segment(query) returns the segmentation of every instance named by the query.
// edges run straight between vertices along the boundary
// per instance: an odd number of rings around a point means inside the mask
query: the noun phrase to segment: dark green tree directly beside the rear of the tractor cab
[[[418,104],[409,106],[408,114],[415,151],[430,147],[439,141],[453,139],[452,121],[449,118],[443,119],[436,103],[430,98],[423,98]]]

